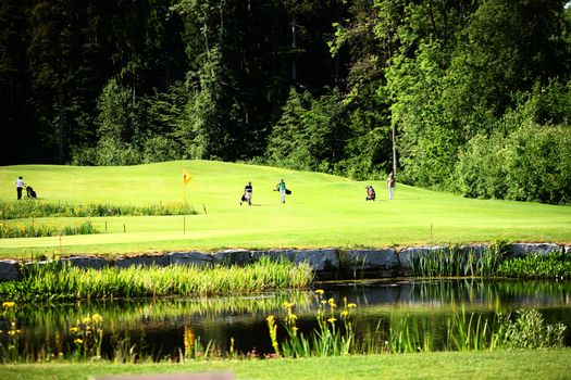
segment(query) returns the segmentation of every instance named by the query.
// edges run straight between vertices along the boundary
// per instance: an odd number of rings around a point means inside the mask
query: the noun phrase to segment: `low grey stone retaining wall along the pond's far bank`
[[[383,278],[398,277],[411,274],[412,262],[419,255],[427,254],[435,250],[457,250],[458,254],[480,255],[487,245],[450,246],[414,246],[401,250],[338,250],[335,248],[315,250],[225,250],[214,253],[202,252],[169,252],[159,255],[124,256],[114,261],[100,256],[70,256],[62,261],[71,266],[80,268],[101,269],[107,267],[128,268],[131,266],[160,266],[195,265],[212,266],[246,265],[268,257],[270,259],[288,259],[294,263],[308,262],[315,270],[319,279],[342,278]],[[571,245],[553,243],[512,243],[511,257],[527,254],[547,255],[554,252],[571,254]],[[0,261],[0,281],[17,280],[20,268],[29,263],[14,259]]]

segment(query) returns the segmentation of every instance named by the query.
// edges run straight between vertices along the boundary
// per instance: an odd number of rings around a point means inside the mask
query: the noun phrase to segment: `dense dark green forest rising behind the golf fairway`
[[[561,0],[3,0],[0,165],[221,160],[571,203]]]

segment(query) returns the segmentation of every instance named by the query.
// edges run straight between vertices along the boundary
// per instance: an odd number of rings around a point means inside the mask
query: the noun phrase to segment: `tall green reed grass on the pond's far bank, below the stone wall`
[[[61,261],[28,264],[21,281],[1,282],[0,300],[82,300],[261,293],[309,287],[309,264],[262,258],[247,266],[82,269]]]

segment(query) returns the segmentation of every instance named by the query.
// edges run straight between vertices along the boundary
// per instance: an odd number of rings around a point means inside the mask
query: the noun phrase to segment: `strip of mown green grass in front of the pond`
[[[189,364],[2,365],[0,379],[79,380],[96,376],[232,372],[236,379],[569,379],[570,350],[445,352]]]

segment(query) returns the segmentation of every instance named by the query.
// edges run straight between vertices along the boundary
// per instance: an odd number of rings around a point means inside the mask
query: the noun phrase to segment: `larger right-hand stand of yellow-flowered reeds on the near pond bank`
[[[546,324],[541,313],[534,309],[522,309],[509,315],[497,313],[493,317],[457,312],[447,318],[446,339],[444,344],[440,342],[437,346],[429,320],[395,318],[389,321],[388,329],[383,328],[380,321],[374,331],[358,335],[348,307],[353,304],[344,300],[345,306],[339,311],[334,300],[319,300],[319,304],[323,307],[320,306],[316,312],[318,327],[312,331],[301,332],[297,328],[297,316],[287,303],[284,305],[287,313],[281,322],[273,315],[268,317],[275,355],[308,357],[564,346],[567,327],[562,324]],[[280,326],[285,331],[282,342],[277,339]]]

